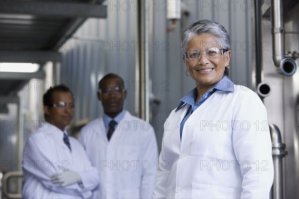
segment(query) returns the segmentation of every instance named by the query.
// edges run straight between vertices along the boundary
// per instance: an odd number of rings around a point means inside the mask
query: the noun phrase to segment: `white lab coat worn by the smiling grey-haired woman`
[[[274,170],[267,112],[251,90],[217,91],[179,126],[188,104],[164,126],[153,198],[265,199]]]

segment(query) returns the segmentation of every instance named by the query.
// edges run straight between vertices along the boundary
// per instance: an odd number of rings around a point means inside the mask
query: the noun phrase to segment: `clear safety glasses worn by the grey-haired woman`
[[[189,50],[187,51],[184,56],[185,59],[188,61],[198,61],[200,59],[201,55],[204,55],[209,60],[218,59],[221,55],[223,55],[226,51],[226,49],[223,48],[206,48],[202,51],[200,50]]]

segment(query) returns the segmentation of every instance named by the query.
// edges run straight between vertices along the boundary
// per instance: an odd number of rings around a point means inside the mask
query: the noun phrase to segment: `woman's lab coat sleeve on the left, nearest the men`
[[[165,129],[165,124],[167,124],[167,122],[164,123],[164,129]],[[166,186],[169,179],[170,167],[169,167],[169,162],[167,161],[164,155],[164,149],[163,149],[164,146],[163,142],[166,136],[165,133],[167,132],[164,131],[163,138],[162,138],[162,147],[159,155],[158,170],[155,177],[152,199],[166,198]]]

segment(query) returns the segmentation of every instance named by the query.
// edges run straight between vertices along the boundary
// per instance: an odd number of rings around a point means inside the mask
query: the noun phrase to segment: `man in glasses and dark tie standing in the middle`
[[[149,122],[123,110],[127,91],[115,74],[99,82],[103,116],[91,121],[79,135],[92,164],[99,170],[96,199],[151,198],[158,152]]]

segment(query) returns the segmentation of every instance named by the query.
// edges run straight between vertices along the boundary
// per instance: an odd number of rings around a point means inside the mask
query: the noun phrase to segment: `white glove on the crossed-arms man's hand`
[[[79,173],[74,171],[58,172],[51,176],[52,183],[60,183],[61,187],[72,185],[74,183],[81,183],[82,179]]]

